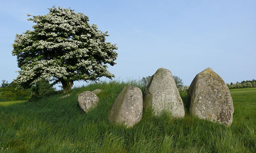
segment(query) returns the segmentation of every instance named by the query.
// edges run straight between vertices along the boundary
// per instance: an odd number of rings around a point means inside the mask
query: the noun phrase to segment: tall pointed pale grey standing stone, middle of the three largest
[[[155,115],[165,110],[174,117],[184,117],[183,102],[169,70],[159,68],[152,75],[145,91],[143,107],[151,108]]]

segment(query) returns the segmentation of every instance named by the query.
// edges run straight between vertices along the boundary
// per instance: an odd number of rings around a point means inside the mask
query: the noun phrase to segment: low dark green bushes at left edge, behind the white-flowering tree
[[[37,82],[29,89],[20,88],[14,81],[8,83],[8,81],[2,80],[0,101],[28,100],[29,98],[40,97],[54,90],[55,88],[46,80]]]

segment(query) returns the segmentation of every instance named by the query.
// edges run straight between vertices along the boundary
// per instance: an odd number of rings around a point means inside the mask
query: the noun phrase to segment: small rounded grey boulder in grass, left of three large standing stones
[[[91,91],[84,91],[78,95],[78,104],[84,113],[87,113],[88,110],[94,108],[98,101],[99,98]]]

